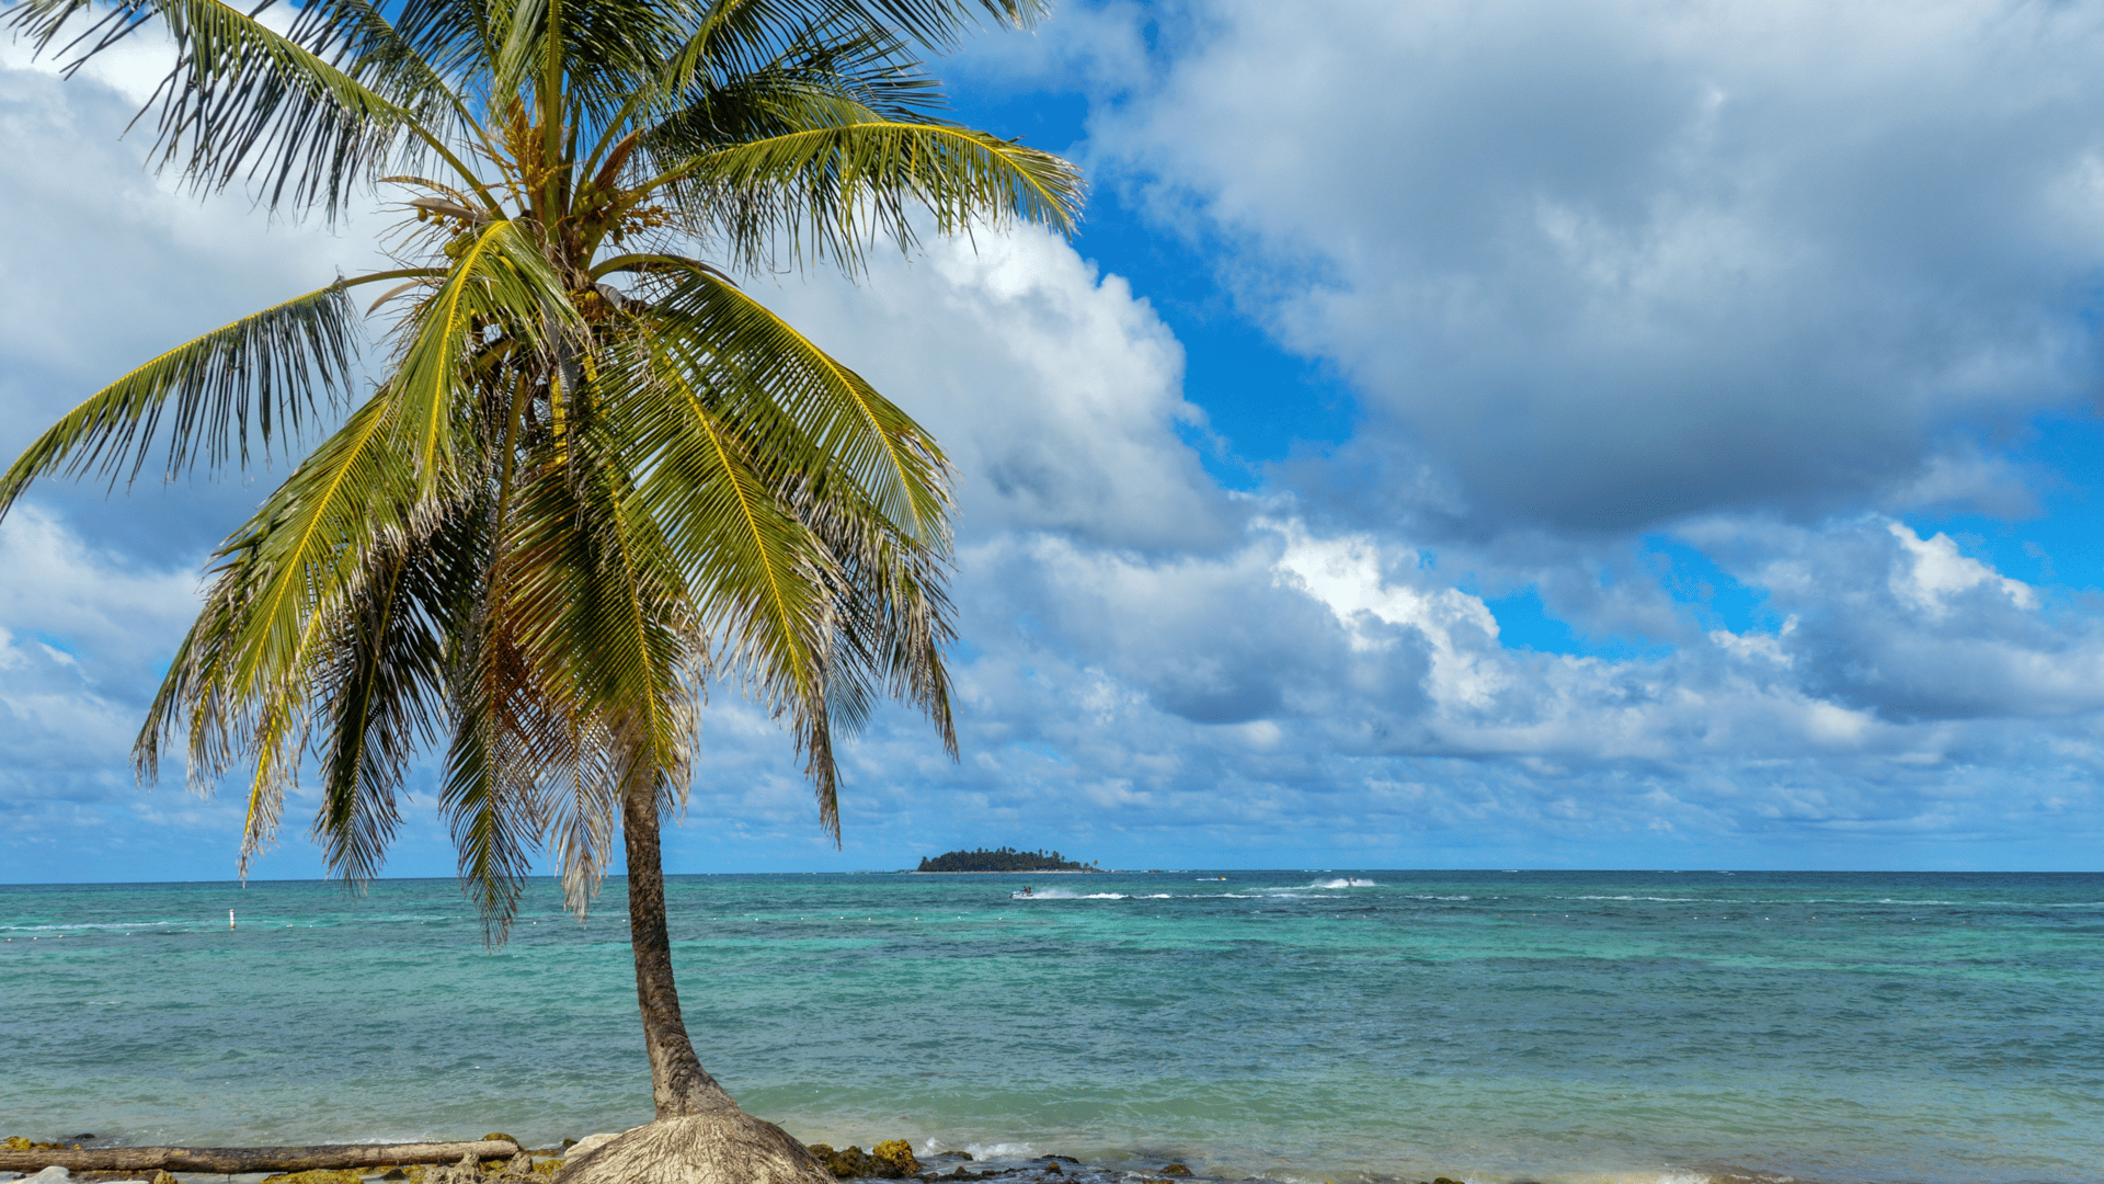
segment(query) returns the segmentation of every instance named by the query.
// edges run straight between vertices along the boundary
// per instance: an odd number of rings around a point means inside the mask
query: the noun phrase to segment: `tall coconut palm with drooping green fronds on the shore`
[[[974,8],[976,4],[976,8]],[[156,158],[200,190],[335,219],[370,190],[398,268],[177,346],[76,407],[0,478],[244,466],[335,417],[217,550],[135,748],[187,735],[194,786],[250,767],[242,870],[301,769],[332,872],[370,879],[404,775],[444,739],[442,811],[492,942],[549,849],[585,910],[619,830],[659,1142],[570,1173],[816,1180],[743,1114],[680,1020],[661,820],[699,695],[787,721],[837,841],[835,729],[890,693],[955,752],[936,442],[736,276],[911,246],[915,228],[1067,230],[1056,156],[940,118],[913,59],[1039,0],[19,0],[78,67],[175,44]],[[358,398],[362,312],[391,282]],[[673,1133],[663,1133],[673,1131]],[[669,1140],[669,1142],[667,1142]]]

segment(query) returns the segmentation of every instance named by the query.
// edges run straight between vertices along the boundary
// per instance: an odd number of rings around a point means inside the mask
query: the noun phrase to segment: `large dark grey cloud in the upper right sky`
[[[1338,514],[1816,516],[1919,493],[1967,430],[2098,383],[2081,8],[1197,8],[1096,150],[1166,225],[1239,244],[1252,308],[1355,375],[1342,474],[1288,474]],[[1355,497],[1427,480],[1452,520]]]

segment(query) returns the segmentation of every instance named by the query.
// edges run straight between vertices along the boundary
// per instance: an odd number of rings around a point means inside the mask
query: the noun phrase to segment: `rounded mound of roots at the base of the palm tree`
[[[572,1157],[555,1184],[833,1184],[833,1176],[789,1131],[724,1106],[623,1131]]]

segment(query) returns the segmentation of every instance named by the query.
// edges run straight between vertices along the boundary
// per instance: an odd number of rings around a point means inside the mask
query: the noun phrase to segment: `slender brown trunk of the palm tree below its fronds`
[[[736,1108],[715,1083],[680,1020],[671,982],[671,938],[665,933],[665,864],[659,855],[659,811],[652,788],[631,790],[621,805],[621,836],[629,855],[629,944],[635,948],[635,1003],[644,1013],[650,1093],[659,1119]]]

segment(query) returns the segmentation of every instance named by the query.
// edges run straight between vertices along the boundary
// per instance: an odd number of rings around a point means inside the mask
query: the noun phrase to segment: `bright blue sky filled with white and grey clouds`
[[[0,453],[370,259],[198,200],[139,44],[0,46]],[[962,756],[879,714],[842,847],[703,712],[673,872],[2104,862],[2104,4],[1067,0],[934,70],[1073,238],[749,289],[959,470]],[[0,883],[229,879],[128,746],[284,474],[0,525]],[[429,773],[417,786],[429,788]],[[297,792],[255,874],[318,876]],[[436,803],[385,874],[452,874]]]

